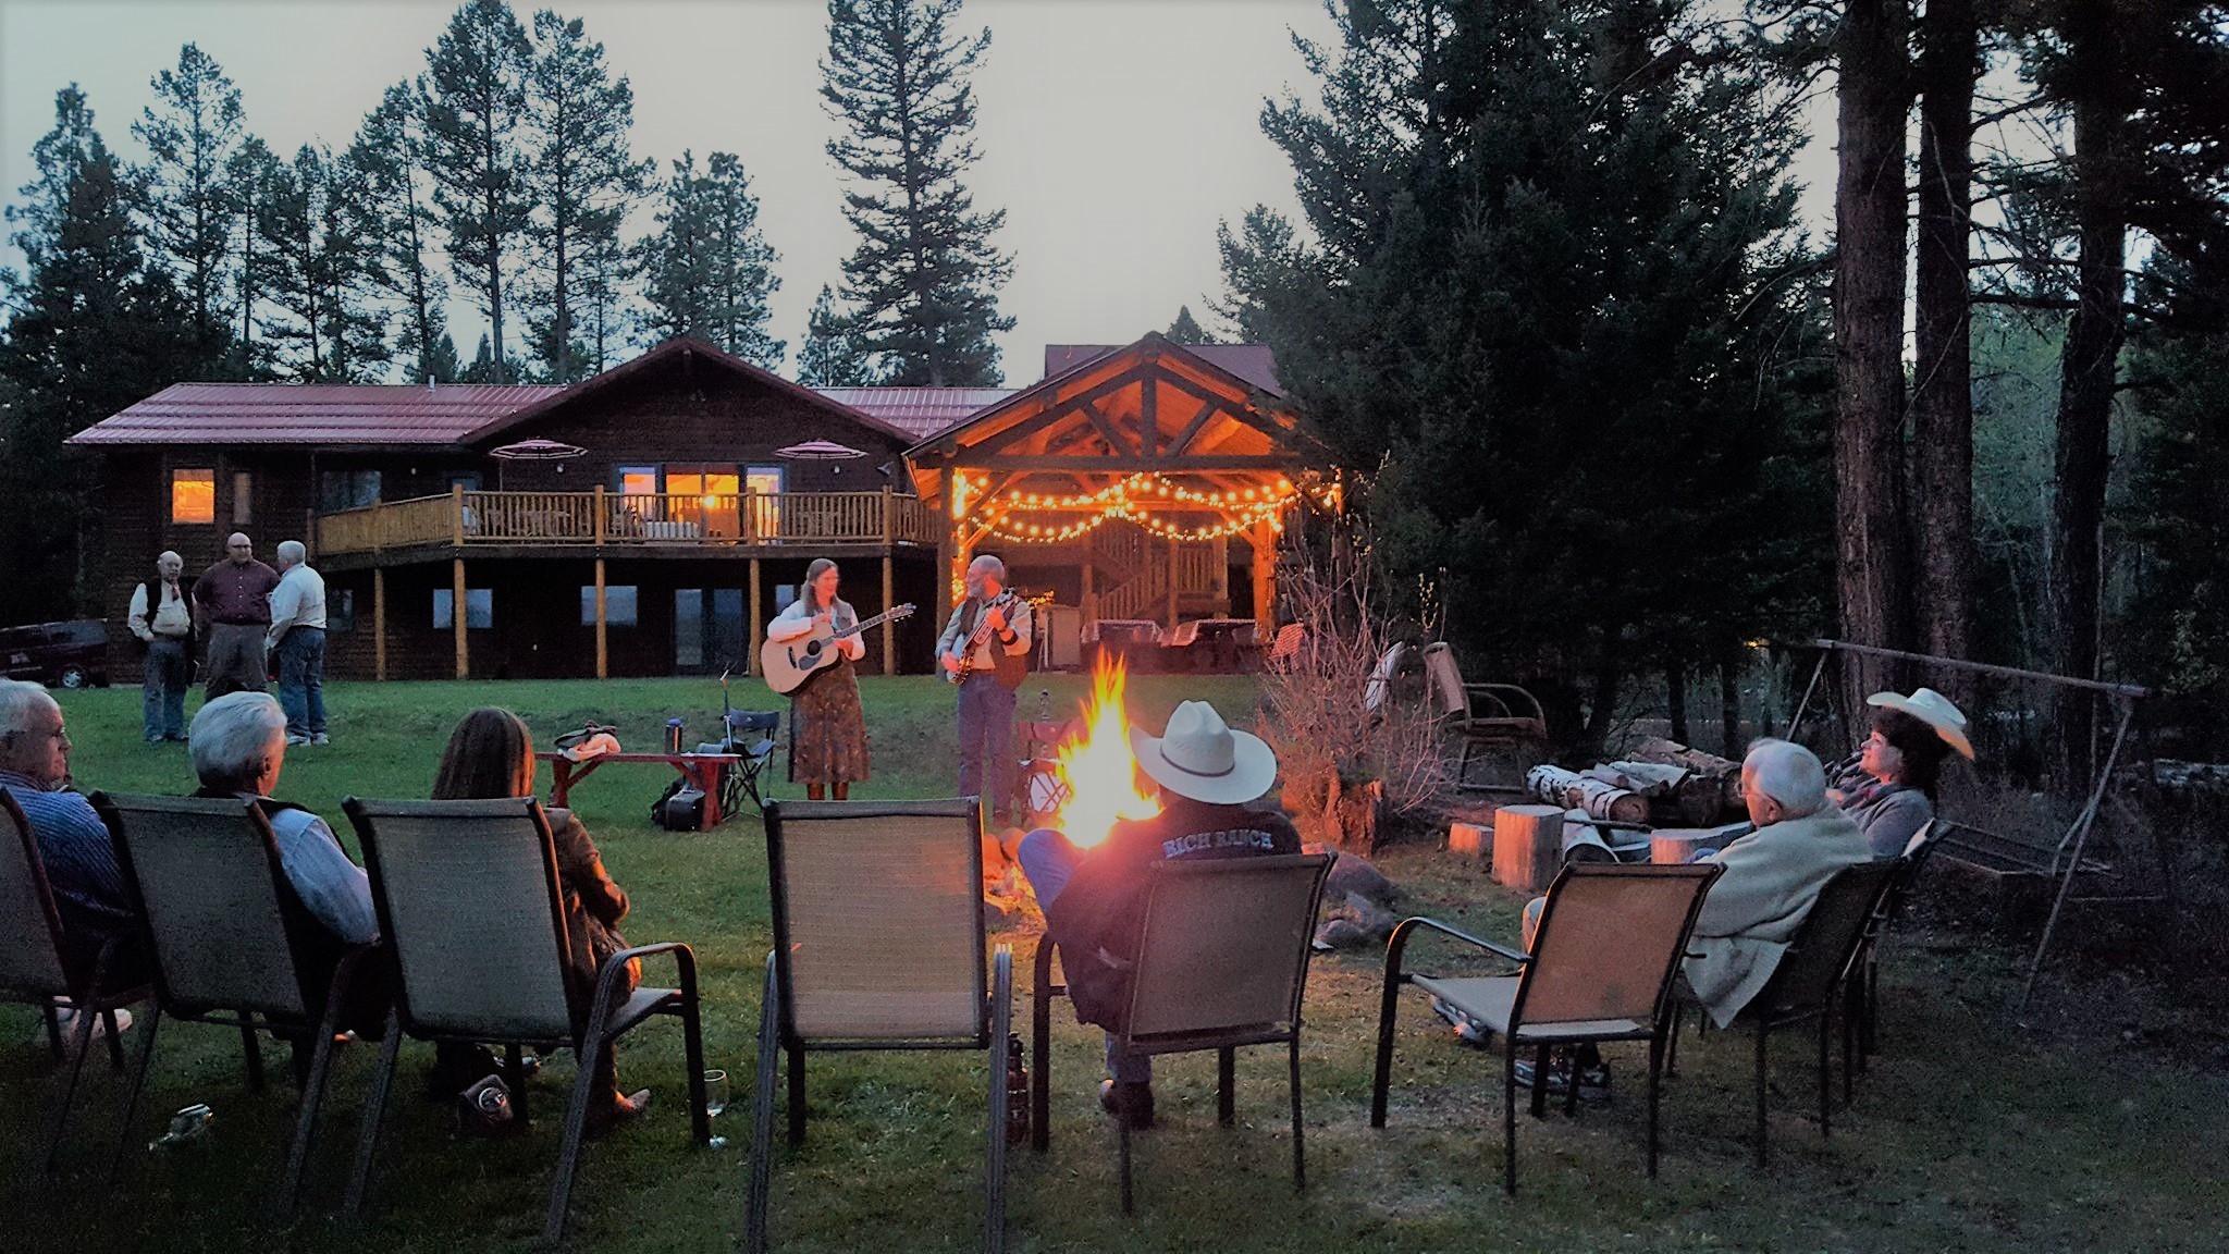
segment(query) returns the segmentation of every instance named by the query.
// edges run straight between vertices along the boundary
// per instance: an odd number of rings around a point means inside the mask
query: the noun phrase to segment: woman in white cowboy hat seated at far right
[[[1973,761],[1966,714],[1948,696],[1921,687],[1910,696],[1875,692],[1872,732],[1832,772],[1828,799],[1857,821],[1872,857],[1899,857],[1935,819],[1935,783],[1950,750]]]

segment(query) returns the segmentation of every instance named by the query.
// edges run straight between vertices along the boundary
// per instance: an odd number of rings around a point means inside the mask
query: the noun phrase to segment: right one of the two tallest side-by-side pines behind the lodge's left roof
[[[531,156],[524,187],[535,205],[526,225],[533,243],[526,303],[531,341],[553,382],[582,373],[577,303],[586,299],[586,257],[620,237],[626,208],[642,196],[655,161],[635,161],[626,132],[635,94],[611,78],[604,45],[588,40],[580,18],[535,13],[533,67],[526,76]]]

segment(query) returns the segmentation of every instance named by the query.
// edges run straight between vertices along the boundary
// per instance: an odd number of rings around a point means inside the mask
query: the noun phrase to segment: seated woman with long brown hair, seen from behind
[[[441,752],[441,770],[432,781],[435,801],[466,801],[486,797],[533,797],[535,794],[535,741],[526,723],[508,710],[475,710],[457,723]],[[566,980],[573,982],[586,1002],[595,995],[595,975],[604,959],[626,948],[620,935],[620,919],[626,917],[626,893],[611,881],[604,857],[588,839],[588,830],[571,810],[548,810],[551,835],[557,839],[557,886],[564,890],[566,924]],[[615,993],[624,1000],[642,982],[642,966],[629,964],[626,977]],[[493,1055],[479,1046],[444,1044],[435,1060],[437,1091],[452,1093],[493,1071]],[[611,1044],[595,1058],[595,1105],[588,1107],[591,1127],[609,1127],[642,1113],[651,1102],[651,1091],[633,1096],[620,1091],[617,1060]]]

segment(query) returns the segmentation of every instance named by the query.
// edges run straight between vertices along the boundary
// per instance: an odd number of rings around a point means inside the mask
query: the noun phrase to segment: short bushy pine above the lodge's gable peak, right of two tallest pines
[[[785,344],[767,335],[778,257],[758,230],[758,199],[742,161],[716,152],[698,174],[695,154],[682,152],[655,223],[640,250],[651,339],[695,335],[778,368]]]

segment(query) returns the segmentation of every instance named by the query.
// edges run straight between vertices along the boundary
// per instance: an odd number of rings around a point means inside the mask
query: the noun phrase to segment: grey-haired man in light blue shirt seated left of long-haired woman
[[[323,819],[290,801],[272,801],[279,770],[285,765],[285,710],[265,692],[232,692],[201,707],[187,732],[187,754],[201,788],[194,797],[241,797],[256,803],[270,819],[279,841],[279,866],[296,904],[319,924],[323,935],[310,939],[312,953],[301,971],[308,991],[323,991],[345,946],[379,939],[379,917],[372,910],[372,884]],[[379,1031],[386,1020],[386,988],[372,968],[359,968],[341,1026]],[[310,1042],[294,1042],[296,1075],[310,1064]]]

